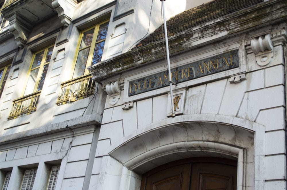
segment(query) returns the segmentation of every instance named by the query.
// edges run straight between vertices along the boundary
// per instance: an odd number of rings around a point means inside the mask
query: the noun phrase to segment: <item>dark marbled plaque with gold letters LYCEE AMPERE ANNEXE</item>
[[[238,50],[171,69],[171,78],[174,83],[180,83],[236,67],[239,67]],[[130,81],[128,96],[168,85],[168,71],[163,71],[155,75]]]

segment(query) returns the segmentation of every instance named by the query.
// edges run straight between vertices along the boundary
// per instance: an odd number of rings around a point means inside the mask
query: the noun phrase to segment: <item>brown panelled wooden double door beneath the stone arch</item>
[[[145,173],[141,190],[236,190],[237,161],[194,158]]]

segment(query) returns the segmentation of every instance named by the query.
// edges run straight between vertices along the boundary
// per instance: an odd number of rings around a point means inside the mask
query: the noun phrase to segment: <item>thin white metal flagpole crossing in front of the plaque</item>
[[[172,117],[175,117],[174,109],[173,109],[173,94],[172,94],[172,78],[171,78],[171,72],[170,72],[170,61],[169,61],[169,50],[168,50],[168,41],[167,41],[167,30],[166,30],[166,18],[165,18],[165,8],[164,8],[164,1],[160,0],[162,2],[162,9],[163,9],[163,20],[164,20],[164,34],[165,34],[165,45],[166,45],[166,58],[167,58],[167,65],[168,65],[168,83],[170,88],[170,100],[171,100],[171,110],[172,110]]]

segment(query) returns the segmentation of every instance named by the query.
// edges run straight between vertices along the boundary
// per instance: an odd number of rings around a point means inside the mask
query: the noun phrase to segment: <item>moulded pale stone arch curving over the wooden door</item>
[[[181,115],[138,129],[138,135],[125,137],[109,155],[139,175],[189,157],[234,159],[238,161],[237,188],[242,189],[247,182],[253,183],[254,173],[249,173],[248,179],[244,176],[246,160],[255,161],[255,133],[260,141],[264,138],[262,131],[263,125],[231,116]]]

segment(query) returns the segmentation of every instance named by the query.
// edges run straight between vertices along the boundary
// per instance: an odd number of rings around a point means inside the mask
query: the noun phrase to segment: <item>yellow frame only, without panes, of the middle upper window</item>
[[[36,52],[33,54],[32,61],[31,61],[31,63],[30,63],[30,67],[29,67],[29,72],[27,73],[27,77],[26,77],[26,83],[25,83],[26,86],[25,86],[25,88],[24,88],[24,92],[22,93],[22,96],[25,95],[25,91],[26,91],[26,88],[27,88],[27,85],[28,85],[28,80],[29,80],[29,77],[30,77],[31,72],[34,71],[34,70],[36,70],[36,69],[39,69],[38,74],[37,74],[37,77],[36,77],[36,81],[35,81],[35,86],[34,86],[34,89],[33,89],[33,92],[32,92],[32,93],[34,93],[34,92],[37,91],[38,85],[39,85],[39,82],[40,82],[40,78],[41,78],[42,73],[43,73],[44,66],[45,66],[45,65],[48,65],[48,64],[51,62],[51,60],[50,60],[49,62],[45,63],[46,58],[47,58],[47,55],[48,55],[48,50],[49,50],[49,48],[51,48],[51,47],[54,47],[54,44],[53,44],[53,45],[50,45],[50,46],[47,46],[47,47],[45,47],[45,48],[43,48],[43,49],[41,49],[41,50],[39,50],[39,51],[36,51]],[[42,52],[43,50],[44,50],[44,53],[43,53],[43,58],[42,58],[42,61],[41,61],[41,63],[40,63],[40,66],[35,67],[35,68],[32,68],[32,67],[33,67],[33,63],[34,63],[34,60],[35,60],[35,58],[36,58],[36,55],[37,55],[38,53]],[[26,95],[28,95],[28,94],[26,94]]]

